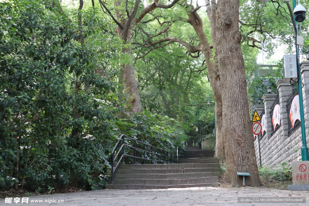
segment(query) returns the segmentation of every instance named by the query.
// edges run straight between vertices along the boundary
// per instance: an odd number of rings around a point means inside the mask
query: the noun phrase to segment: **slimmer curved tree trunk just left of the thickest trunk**
[[[211,61],[213,59],[213,55],[211,53],[209,42],[203,30],[203,21],[201,17],[197,14],[197,12],[188,13],[188,17],[188,23],[193,26],[195,32],[197,33],[197,36],[201,41],[201,51],[203,52],[205,57],[205,62],[210,77],[211,88],[214,93],[214,100],[216,103],[216,157],[219,161],[222,161],[225,160],[225,153],[223,144],[224,140],[222,136],[222,91],[219,71],[217,69],[216,62]]]

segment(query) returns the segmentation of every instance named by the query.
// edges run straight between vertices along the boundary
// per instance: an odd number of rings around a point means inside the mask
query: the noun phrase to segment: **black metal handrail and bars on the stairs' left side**
[[[134,141],[134,146],[126,144],[125,143],[126,139]],[[122,142],[122,144],[121,144],[121,142]],[[144,145],[144,149],[137,148],[136,147],[136,143],[140,143],[140,144]],[[118,149],[119,146],[120,146],[120,148],[119,148],[118,152],[116,152],[116,150]],[[145,149],[146,146],[150,147],[151,151],[146,150]],[[125,147],[133,149],[134,150],[134,155],[126,154],[125,153]],[[136,154],[137,150],[144,153],[143,157],[138,157],[137,156],[137,154]],[[155,152],[155,150],[157,150],[157,152]],[[122,154],[121,154],[121,152],[122,152]],[[146,153],[147,154],[151,154],[151,159],[148,158]],[[121,154],[121,157],[120,157],[119,161],[117,161],[116,159],[117,159],[119,154]],[[158,164],[159,162],[163,163],[163,164],[164,163],[175,163],[175,162],[178,161],[178,158],[179,159],[184,158],[184,149],[181,149],[181,148],[177,147],[177,152],[176,152],[176,154],[174,154],[174,153],[171,153],[171,152],[169,152],[169,151],[167,151],[165,149],[160,149],[158,147],[154,147],[152,145],[148,145],[148,144],[146,144],[144,142],[138,141],[138,140],[136,140],[136,139],[134,139],[132,137],[128,137],[128,136],[123,134],[123,135],[120,136],[120,138],[117,141],[114,149],[111,152],[111,166],[112,166],[112,168],[111,168],[111,180],[112,181],[114,180],[114,172],[115,172],[117,166],[119,165],[121,160],[122,160],[122,162],[125,161],[125,157],[134,158],[134,164],[136,164],[136,159],[144,160],[143,164],[145,164],[147,160],[150,160],[151,164],[154,164],[154,162],[156,162],[156,164]]]

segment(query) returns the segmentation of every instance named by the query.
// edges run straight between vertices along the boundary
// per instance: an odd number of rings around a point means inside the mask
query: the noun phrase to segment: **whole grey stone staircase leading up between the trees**
[[[107,189],[167,189],[218,187],[221,176],[214,153],[186,147],[177,164],[118,165]],[[196,157],[196,158],[193,158]]]

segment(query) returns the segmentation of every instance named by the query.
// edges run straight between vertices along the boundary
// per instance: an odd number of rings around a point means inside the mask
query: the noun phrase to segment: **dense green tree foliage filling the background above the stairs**
[[[100,189],[120,134],[175,151],[197,144],[198,121],[201,136],[214,132],[214,101],[206,101],[218,62],[205,7],[154,3],[0,3],[0,189]],[[248,101],[256,104],[281,78],[280,62],[271,76],[257,76],[260,43],[269,41],[268,56],[279,44],[292,53],[293,32],[283,1],[244,0],[239,9]],[[194,15],[201,25],[190,23]]]

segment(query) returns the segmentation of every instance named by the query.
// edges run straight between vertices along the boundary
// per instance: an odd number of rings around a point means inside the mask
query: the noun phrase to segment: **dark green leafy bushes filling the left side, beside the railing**
[[[121,42],[102,34],[104,43],[92,41],[105,27],[94,9],[83,11],[79,31],[78,14],[60,15],[49,1],[0,8],[0,188],[18,182],[50,192],[74,179],[81,187],[100,175],[106,181],[113,121],[124,102],[119,70],[108,67],[121,62]],[[104,67],[106,76],[98,72]]]

